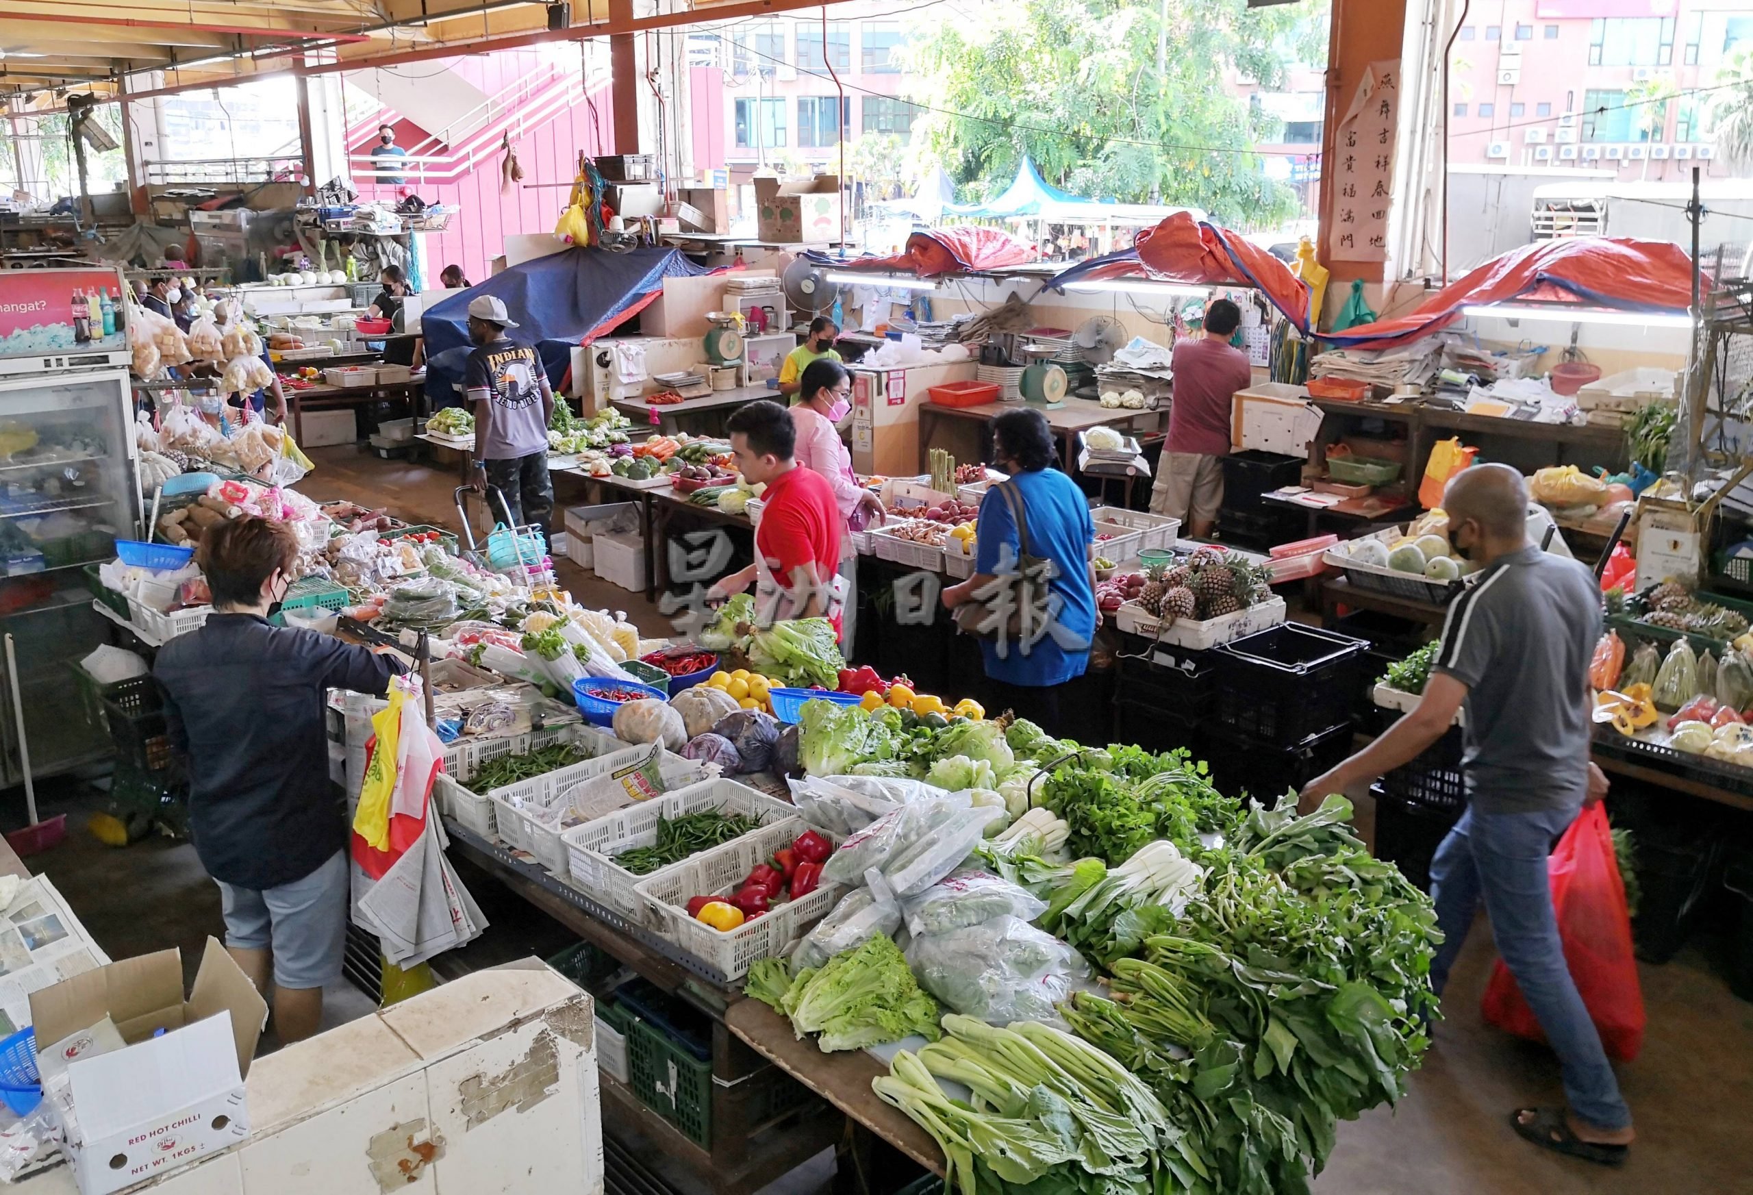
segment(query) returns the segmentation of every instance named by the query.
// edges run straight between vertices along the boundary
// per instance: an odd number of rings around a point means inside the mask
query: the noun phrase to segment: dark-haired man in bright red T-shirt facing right
[[[715,583],[708,599],[740,594],[754,582],[759,622],[824,617],[838,626],[843,582],[836,573],[845,520],[827,478],[798,468],[791,412],[759,400],[740,408],[724,428],[743,480],[764,482],[766,492],[756,524],[756,562]]]

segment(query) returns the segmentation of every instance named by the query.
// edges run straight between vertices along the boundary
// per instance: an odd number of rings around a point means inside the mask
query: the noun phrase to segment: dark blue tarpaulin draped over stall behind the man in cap
[[[556,391],[566,378],[573,345],[607,336],[663,294],[664,279],[713,273],[696,266],[680,249],[568,249],[535,258],[494,273],[461,294],[426,310],[426,392],[433,407],[461,401],[454,384],[463,380],[468,342],[468,303],[482,294],[498,296],[517,328],[505,335],[535,345]]]

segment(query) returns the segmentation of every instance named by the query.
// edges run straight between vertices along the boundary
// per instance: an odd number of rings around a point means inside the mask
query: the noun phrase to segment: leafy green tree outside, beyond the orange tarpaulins
[[[1252,152],[1278,121],[1231,72],[1280,88],[1290,61],[1325,61],[1325,4],[989,0],[906,53],[915,100],[934,109],[924,137],[971,196],[1001,191],[1027,154],[1075,194],[1269,226],[1297,198]]]

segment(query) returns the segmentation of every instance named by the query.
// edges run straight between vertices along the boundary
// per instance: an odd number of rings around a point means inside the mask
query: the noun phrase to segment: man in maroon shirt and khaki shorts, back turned
[[[1236,391],[1253,380],[1248,357],[1229,345],[1241,308],[1229,300],[1206,307],[1204,335],[1175,342],[1175,400],[1169,442],[1157,464],[1150,510],[1182,520],[1183,534],[1204,540],[1224,505],[1224,457],[1229,456]]]

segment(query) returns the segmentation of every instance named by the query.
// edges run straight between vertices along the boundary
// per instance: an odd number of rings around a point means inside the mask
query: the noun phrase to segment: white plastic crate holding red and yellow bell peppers
[[[687,915],[687,902],[696,895],[729,895],[738,883],[766,862],[775,850],[803,834],[803,818],[775,822],[756,834],[745,834],[735,843],[713,846],[675,867],[664,867],[635,885],[640,897],[659,918],[659,932],[677,946],[719,971],[726,981],[742,979],[761,958],[773,958],[805,936],[812,925],[827,915],[840,901],[840,885],[824,885],[801,901],[785,901],[733,930],[717,930]]]

